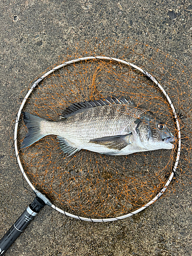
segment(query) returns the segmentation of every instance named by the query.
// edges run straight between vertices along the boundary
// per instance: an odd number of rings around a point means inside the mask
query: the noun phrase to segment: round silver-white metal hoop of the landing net
[[[49,199],[47,199],[44,195],[42,195],[34,186],[33,184],[30,182],[29,178],[27,177],[27,174],[25,173],[25,170],[23,168],[22,162],[19,158],[19,153],[18,153],[18,147],[17,147],[17,132],[18,132],[18,123],[19,123],[19,119],[20,119],[20,114],[22,113],[22,110],[24,108],[24,105],[28,99],[28,97],[30,96],[30,94],[32,93],[32,91],[37,87],[38,83],[40,83],[44,78],[46,78],[48,75],[52,74],[54,71],[65,67],[67,65],[71,65],[75,62],[80,62],[80,61],[86,61],[86,60],[94,60],[94,59],[98,59],[98,60],[112,60],[118,63],[121,63],[123,65],[126,66],[130,66],[138,71],[140,71],[141,73],[143,73],[143,75],[147,76],[148,78],[150,78],[155,84],[156,86],[159,88],[159,90],[164,94],[164,96],[166,97],[170,108],[173,111],[173,116],[175,117],[175,122],[177,125],[177,129],[178,129],[178,145],[177,145],[177,157],[176,157],[176,161],[175,161],[175,165],[173,167],[172,173],[170,173],[164,187],[161,189],[161,191],[147,204],[145,204],[144,206],[142,206],[141,208],[134,210],[132,212],[129,212],[128,214],[119,216],[119,217],[115,217],[115,218],[100,218],[100,219],[92,219],[92,218],[86,218],[86,217],[80,217],[74,214],[70,214],[69,212],[62,210],[60,208],[58,208],[57,206],[55,206],[53,203],[51,203],[51,201]],[[172,181],[175,173],[176,173],[176,169],[177,169],[177,165],[179,162],[179,157],[180,157],[180,152],[181,152],[181,132],[180,132],[180,125],[179,125],[179,120],[178,120],[178,116],[175,110],[175,107],[173,105],[172,100],[170,100],[168,94],[166,93],[166,91],[163,89],[163,87],[161,86],[161,84],[158,82],[158,80],[153,77],[150,73],[148,73],[147,71],[145,71],[142,68],[139,68],[138,66],[134,65],[133,63],[127,62],[125,60],[121,60],[118,58],[113,58],[113,57],[106,57],[106,56],[89,56],[89,57],[82,57],[82,58],[77,58],[77,59],[73,59],[67,62],[62,63],[61,65],[53,68],[52,70],[49,70],[46,74],[44,74],[43,76],[41,76],[40,78],[38,78],[32,85],[31,89],[29,90],[29,92],[26,94],[25,98],[22,101],[22,104],[20,105],[20,108],[18,110],[18,114],[15,120],[15,130],[14,130],[14,146],[15,146],[15,154],[16,154],[16,159],[18,162],[18,165],[20,167],[20,170],[22,171],[22,174],[24,176],[24,178],[26,179],[27,183],[29,184],[29,186],[32,188],[32,190],[34,191],[34,193],[39,196],[41,199],[43,199],[45,201],[45,203],[49,206],[51,206],[53,209],[61,212],[61,214],[65,214],[66,216],[78,219],[78,220],[82,220],[82,221],[90,221],[90,222],[110,222],[110,221],[116,221],[116,220],[121,220],[127,217],[131,217],[133,215],[138,214],[138,212],[144,210],[146,207],[150,206],[151,204],[153,204],[155,201],[157,201],[165,192],[167,186],[169,185],[169,183]]]

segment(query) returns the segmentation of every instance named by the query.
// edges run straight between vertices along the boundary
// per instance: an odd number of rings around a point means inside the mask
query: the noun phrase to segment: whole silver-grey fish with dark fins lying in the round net
[[[68,156],[80,150],[129,155],[174,148],[175,138],[166,123],[122,96],[76,102],[63,111],[59,121],[28,112],[23,113],[23,119],[28,133],[21,148],[49,135],[57,136],[61,150]]]

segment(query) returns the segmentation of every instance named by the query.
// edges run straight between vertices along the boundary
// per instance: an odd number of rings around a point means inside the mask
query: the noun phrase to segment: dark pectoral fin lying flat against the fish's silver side
[[[125,135],[107,136],[91,139],[89,142],[106,146],[108,148],[111,148],[112,150],[122,150],[122,148],[130,144],[131,136],[132,133]]]

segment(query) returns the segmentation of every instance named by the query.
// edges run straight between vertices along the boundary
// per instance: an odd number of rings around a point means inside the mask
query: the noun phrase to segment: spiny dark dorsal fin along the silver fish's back
[[[98,99],[98,100],[89,100],[84,102],[73,103],[68,106],[60,116],[61,118],[68,118],[77,113],[81,113],[86,111],[87,109],[95,108],[96,106],[105,106],[110,104],[131,104],[135,105],[135,103],[130,99],[125,99],[124,97],[106,97],[106,99]]]

